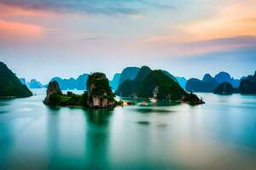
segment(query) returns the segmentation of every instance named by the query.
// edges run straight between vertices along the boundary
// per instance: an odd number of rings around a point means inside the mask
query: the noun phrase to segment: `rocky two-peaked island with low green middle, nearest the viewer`
[[[62,94],[58,82],[49,82],[47,96],[44,99],[45,105],[62,106],[84,106],[90,108],[108,108],[123,105],[122,101],[114,99],[108,78],[105,74],[96,72],[91,74],[87,80],[87,91],[84,94],[73,94],[67,92]]]

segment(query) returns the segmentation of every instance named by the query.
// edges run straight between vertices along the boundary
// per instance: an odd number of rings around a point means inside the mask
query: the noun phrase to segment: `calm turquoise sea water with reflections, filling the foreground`
[[[0,169],[256,169],[256,96],[108,110],[0,101]]]

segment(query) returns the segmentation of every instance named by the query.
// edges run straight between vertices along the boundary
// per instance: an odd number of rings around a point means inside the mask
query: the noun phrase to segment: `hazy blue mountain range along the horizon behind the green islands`
[[[116,73],[113,76],[113,80],[109,81],[109,85],[113,91],[116,91],[119,88],[119,85],[125,82],[126,80],[135,80],[137,78],[138,72],[141,70],[139,67],[126,67],[121,73]],[[253,87],[254,80],[253,76],[241,77],[241,79],[235,79],[231,77],[229,73],[221,71],[214,77],[210,74],[206,74],[202,80],[197,78],[190,78],[187,80],[184,77],[174,77],[170,72],[163,71],[166,76],[172,78],[173,81],[178,82],[178,84],[188,92],[206,92],[213,93],[216,88],[216,92],[222,92],[223,89],[230,88],[229,84],[224,82],[228,82],[234,88],[234,92],[241,94],[252,94],[254,93]],[[61,77],[54,77],[50,80],[50,82],[56,81],[59,83],[61,90],[85,90],[86,89],[86,81],[89,77],[89,74],[80,75],[78,78],[69,78],[62,79]],[[38,82],[35,79],[32,79],[30,82],[26,82],[25,78],[20,78],[20,82],[22,84],[26,84],[28,88],[47,88],[47,85],[43,85],[41,82]],[[242,82],[242,83],[241,83]],[[222,84],[224,83],[224,84]],[[219,86],[222,84],[222,86]],[[239,88],[239,89],[238,89]],[[248,89],[250,88],[250,89]],[[216,93],[217,94],[217,93]]]

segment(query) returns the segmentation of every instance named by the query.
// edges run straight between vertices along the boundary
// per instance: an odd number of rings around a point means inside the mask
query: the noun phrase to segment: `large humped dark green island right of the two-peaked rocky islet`
[[[122,82],[115,94],[120,97],[179,101],[190,105],[204,104],[195,94],[185,92],[165,71],[152,71],[148,66],[143,66],[134,80]]]

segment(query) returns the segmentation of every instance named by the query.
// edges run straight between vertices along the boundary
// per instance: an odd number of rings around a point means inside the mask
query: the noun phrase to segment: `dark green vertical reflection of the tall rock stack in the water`
[[[85,135],[85,157],[87,168],[108,169],[109,168],[109,118],[113,109],[87,109],[86,116],[89,126]]]

